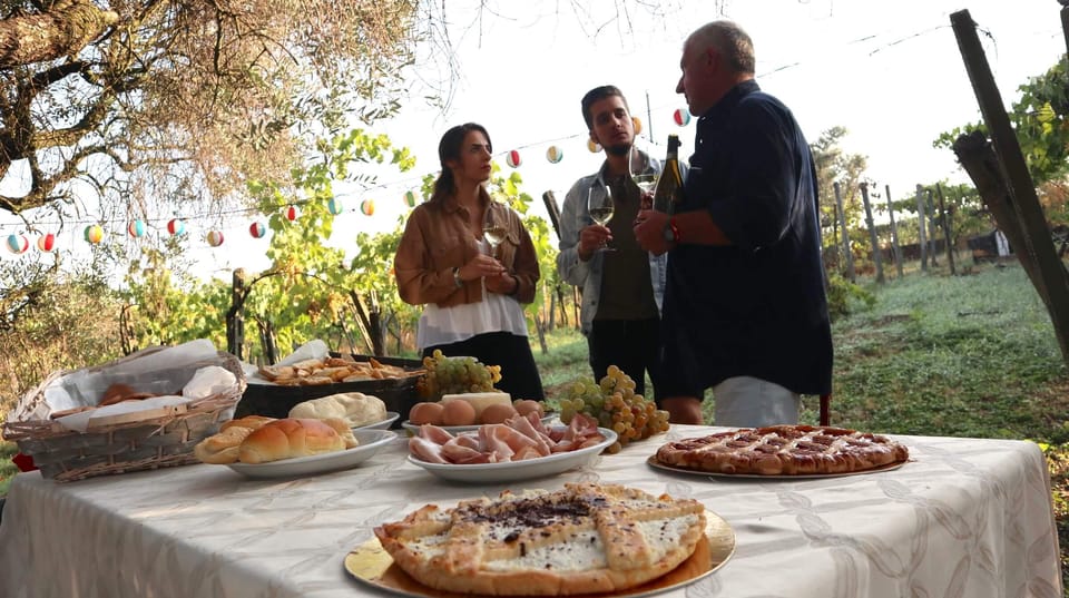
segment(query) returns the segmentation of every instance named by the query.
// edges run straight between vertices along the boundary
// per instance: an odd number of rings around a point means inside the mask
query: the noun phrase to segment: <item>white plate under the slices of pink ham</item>
[[[421,467],[434,476],[445,480],[471,483],[497,483],[516,480],[528,480],[561,473],[569,469],[585,465],[597,459],[601,451],[616,442],[616,432],[608,428],[598,428],[605,441],[576,451],[559,452],[549,457],[524,459],[523,461],[504,461],[501,463],[472,463],[470,465],[454,465],[452,463],[428,463],[409,454],[409,462]]]

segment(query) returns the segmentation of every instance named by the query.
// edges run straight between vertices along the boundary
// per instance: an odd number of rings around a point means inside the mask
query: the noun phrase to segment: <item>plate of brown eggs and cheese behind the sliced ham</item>
[[[546,423],[557,416],[556,413],[547,413],[541,401],[513,401],[507,392],[447,394],[441,401],[412,405],[409,419],[401,422],[401,425],[415,433],[421,425],[430,423],[455,434],[478,430],[484,423],[503,423],[516,415],[527,415],[532,411],[537,411]]]

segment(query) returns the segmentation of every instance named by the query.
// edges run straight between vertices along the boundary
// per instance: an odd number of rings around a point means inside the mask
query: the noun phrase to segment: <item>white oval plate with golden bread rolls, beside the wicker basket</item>
[[[353,430],[334,418],[248,415],[224,423],[194,454],[249,478],[282,478],[356,467],[395,438],[390,430]]]

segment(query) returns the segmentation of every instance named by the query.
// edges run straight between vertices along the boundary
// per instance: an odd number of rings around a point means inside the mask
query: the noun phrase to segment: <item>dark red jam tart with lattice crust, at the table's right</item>
[[[661,445],[661,464],[709,473],[840,474],[901,463],[905,445],[887,437],[814,425],[769,425],[717,432]]]

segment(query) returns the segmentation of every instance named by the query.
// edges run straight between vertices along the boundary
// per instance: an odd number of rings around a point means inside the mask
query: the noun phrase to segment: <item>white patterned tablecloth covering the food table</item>
[[[669,439],[712,428],[674,427]],[[668,596],[1061,598],[1042,454],[1029,442],[896,437],[913,460],[876,474],[725,480],[645,460],[666,437],[530,482],[447,483],[403,460],[405,442],[349,471],[254,481],[219,465],[66,484],[19,474],[0,525],[0,596],[374,595],[343,560],[372,528],[428,502],[504,488],[624,483],[693,497],[727,520],[734,557]]]

